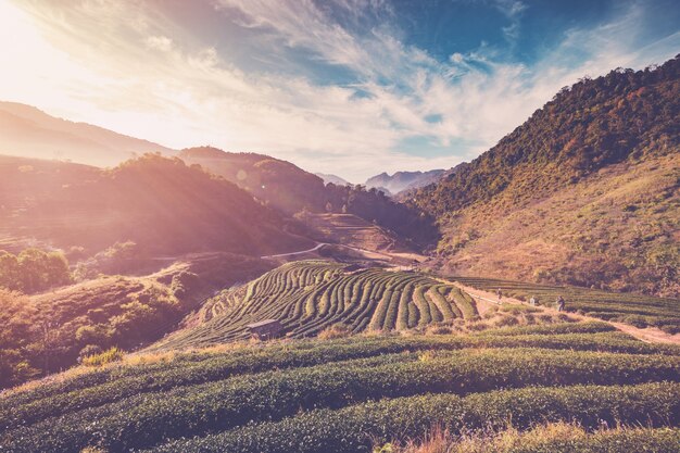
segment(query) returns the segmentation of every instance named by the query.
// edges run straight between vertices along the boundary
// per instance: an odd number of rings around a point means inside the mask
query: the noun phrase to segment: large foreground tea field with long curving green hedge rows
[[[565,323],[137,357],[0,395],[0,451],[354,453],[508,420],[640,424],[627,451],[659,451],[644,449],[677,436],[680,350]]]

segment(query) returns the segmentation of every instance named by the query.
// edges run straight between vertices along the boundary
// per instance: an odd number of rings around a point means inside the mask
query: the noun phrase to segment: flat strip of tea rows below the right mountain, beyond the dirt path
[[[632,293],[605,292],[576,287],[555,287],[491,278],[452,277],[461,284],[486,291],[501,289],[504,294],[528,301],[532,295],[539,304],[554,306],[557,295],[567,301],[567,310],[580,311],[605,320],[635,327],[659,327],[668,334],[680,332],[680,300]]]

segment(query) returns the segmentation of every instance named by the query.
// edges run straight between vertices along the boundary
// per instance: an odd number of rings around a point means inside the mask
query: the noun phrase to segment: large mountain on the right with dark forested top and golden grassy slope
[[[582,79],[411,201],[451,272],[678,295],[680,60]]]

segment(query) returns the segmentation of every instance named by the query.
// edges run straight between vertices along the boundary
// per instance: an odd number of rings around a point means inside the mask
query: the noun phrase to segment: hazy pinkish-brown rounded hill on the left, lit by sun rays
[[[91,256],[133,241],[139,255],[172,256],[312,247],[248,192],[178,159],[146,154],[110,171],[20,158],[0,163],[3,248],[83,248]]]

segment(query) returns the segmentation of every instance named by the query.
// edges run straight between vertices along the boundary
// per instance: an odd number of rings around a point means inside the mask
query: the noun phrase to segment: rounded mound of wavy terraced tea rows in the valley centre
[[[205,303],[201,324],[168,337],[163,348],[205,347],[248,338],[245,326],[278,319],[291,338],[312,337],[341,324],[354,334],[418,329],[470,319],[475,301],[452,285],[410,272],[299,261]]]

